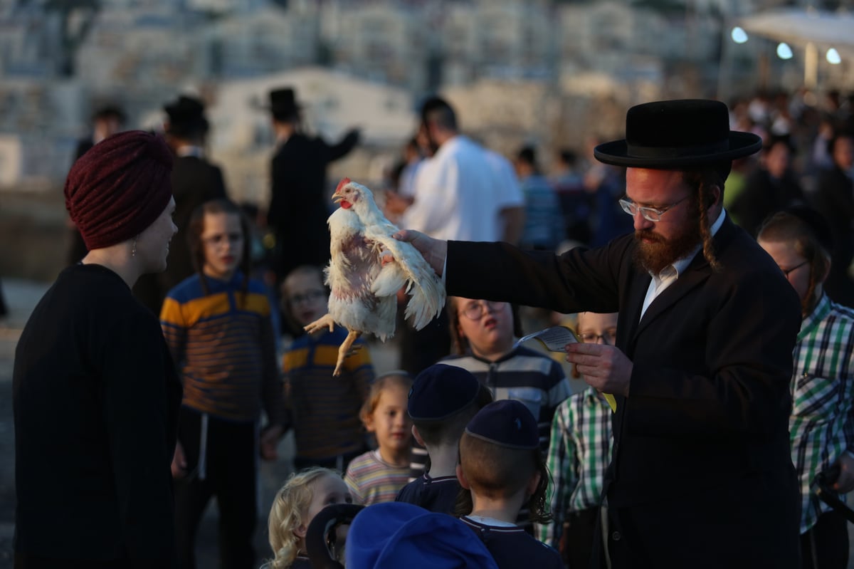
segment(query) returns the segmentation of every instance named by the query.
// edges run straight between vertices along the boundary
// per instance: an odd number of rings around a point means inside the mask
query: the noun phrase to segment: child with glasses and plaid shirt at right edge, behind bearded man
[[[757,242],[798,293],[804,317],[793,350],[789,417],[801,493],[801,566],[844,569],[845,515],[822,502],[816,490],[820,475],[831,490],[854,490],[854,310],[831,301],[823,290],[832,243],[827,222],[815,210],[774,214]]]

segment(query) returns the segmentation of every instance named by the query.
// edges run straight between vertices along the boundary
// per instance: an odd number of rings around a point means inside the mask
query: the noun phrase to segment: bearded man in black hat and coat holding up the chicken
[[[617,400],[604,490],[617,569],[799,566],[787,423],[798,298],[722,208],[731,161],[761,144],[729,131],[723,103],[638,105],[626,138],[594,152],[628,167],[634,235],[560,256],[397,236],[444,271],[449,295],[619,312],[616,345],[566,347]]]

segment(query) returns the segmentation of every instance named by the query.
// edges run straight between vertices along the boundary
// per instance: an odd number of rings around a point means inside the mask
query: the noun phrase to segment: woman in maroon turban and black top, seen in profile
[[[74,163],[66,207],[89,253],[62,271],[15,352],[15,567],[170,567],[181,387],[132,296],[166,268],[172,156],[141,131]]]

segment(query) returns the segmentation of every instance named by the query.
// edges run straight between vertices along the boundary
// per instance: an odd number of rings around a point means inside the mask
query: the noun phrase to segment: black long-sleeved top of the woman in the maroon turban
[[[181,384],[120,277],[65,269],[15,350],[16,565],[171,567]]]

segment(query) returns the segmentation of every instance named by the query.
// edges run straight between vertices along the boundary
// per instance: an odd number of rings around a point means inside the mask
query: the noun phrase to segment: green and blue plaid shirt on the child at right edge
[[[801,324],[793,355],[789,432],[804,533],[830,510],[812,488],[816,475],[854,449],[854,311],[822,296]]]

